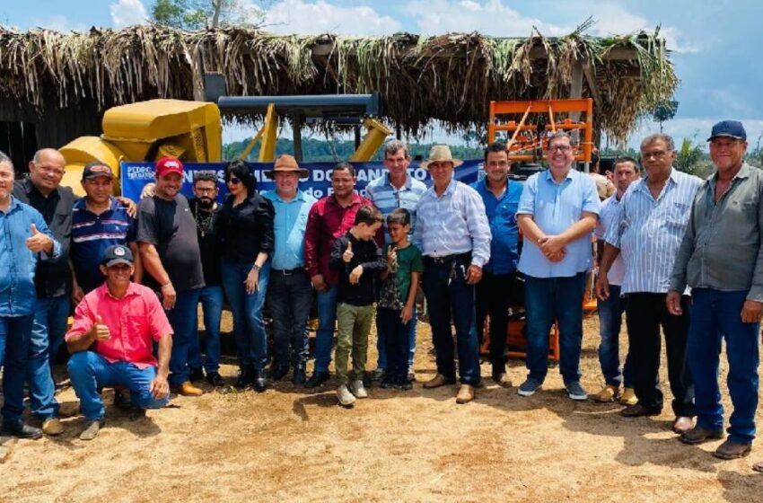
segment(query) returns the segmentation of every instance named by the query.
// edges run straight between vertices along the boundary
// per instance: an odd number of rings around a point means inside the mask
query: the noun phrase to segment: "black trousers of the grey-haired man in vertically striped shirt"
[[[638,402],[647,409],[662,410],[660,387],[660,327],[665,332],[668,378],[676,416],[694,416],[694,384],[686,365],[688,336],[688,296],[681,297],[683,314],[673,316],[665,305],[665,294],[627,295],[627,337],[633,363]]]

